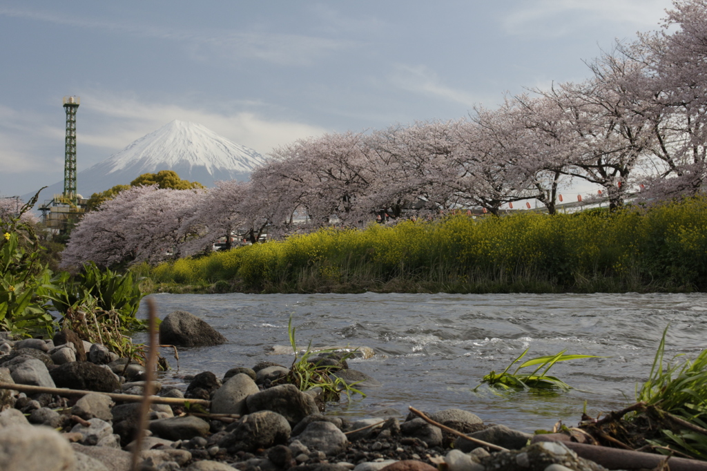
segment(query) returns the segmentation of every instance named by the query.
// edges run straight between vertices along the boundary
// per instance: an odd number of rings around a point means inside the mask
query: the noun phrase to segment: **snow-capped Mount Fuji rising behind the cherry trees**
[[[78,193],[88,198],[115,185],[129,185],[143,173],[174,170],[184,180],[213,187],[218,180],[247,180],[250,172],[264,162],[253,149],[235,144],[201,124],[175,120],[76,173],[76,186]],[[63,181],[54,183],[42,190],[40,202],[63,191]],[[27,201],[33,195],[22,198]]]

